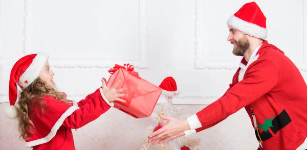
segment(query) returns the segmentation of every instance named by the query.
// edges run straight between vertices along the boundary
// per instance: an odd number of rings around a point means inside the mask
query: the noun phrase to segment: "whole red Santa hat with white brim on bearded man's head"
[[[255,2],[246,3],[229,17],[227,25],[244,34],[265,40],[268,37],[267,18]]]

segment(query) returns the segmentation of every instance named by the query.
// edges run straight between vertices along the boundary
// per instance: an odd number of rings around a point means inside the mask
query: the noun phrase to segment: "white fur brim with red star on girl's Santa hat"
[[[18,85],[21,89],[28,87],[34,80],[39,77],[45,63],[48,61],[49,55],[45,53],[38,53],[33,59],[30,66],[19,77]]]

